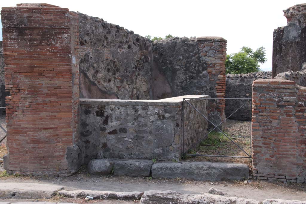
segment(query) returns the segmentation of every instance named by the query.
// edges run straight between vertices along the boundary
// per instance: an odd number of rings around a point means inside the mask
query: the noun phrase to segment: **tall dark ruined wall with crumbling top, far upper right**
[[[282,72],[300,71],[306,65],[306,4],[283,12],[287,25],[273,32],[273,78]]]

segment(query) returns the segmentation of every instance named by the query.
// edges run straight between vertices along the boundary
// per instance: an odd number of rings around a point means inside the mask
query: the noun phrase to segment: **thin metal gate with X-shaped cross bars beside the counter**
[[[183,112],[183,156],[186,155],[186,156],[205,156],[205,157],[232,157],[232,158],[252,158],[252,155],[251,154],[248,154],[244,149],[242,149],[237,143],[235,143],[235,141],[233,141],[226,133],[224,133],[222,130],[220,130],[220,128],[218,128],[218,126],[220,126],[221,124],[223,124],[227,119],[229,119],[234,113],[236,113],[239,109],[241,109],[245,104],[249,103],[250,107],[252,107],[252,98],[203,98],[203,100],[209,100],[209,99],[212,99],[212,100],[220,100],[220,99],[225,99],[225,100],[230,100],[230,99],[238,99],[238,100],[247,100],[242,106],[240,106],[237,110],[235,110],[232,114],[230,114],[229,117],[227,117],[225,120],[223,120],[220,124],[218,125],[215,125],[212,121],[210,121],[205,115],[203,115],[203,113],[201,113],[196,107],[192,106],[191,103],[189,103],[186,99],[194,99],[194,98],[183,98],[183,105],[182,105],[182,112]],[[199,98],[197,98],[199,99]],[[184,138],[184,102],[186,102],[189,106],[191,106],[193,109],[196,110],[196,112],[200,113],[200,115],[202,117],[204,117],[208,122],[210,122],[214,128],[208,132],[202,139],[200,139],[197,143],[195,143],[192,147],[190,147],[187,151],[185,151],[185,138]],[[252,117],[251,117],[252,118]],[[250,120],[250,152],[252,152],[252,137],[251,137],[251,131],[252,131],[252,120]],[[189,150],[193,149],[194,147],[196,147],[201,141],[203,141],[203,139],[206,139],[207,136],[212,132],[214,131],[215,129],[218,129],[218,131],[220,131],[224,136],[226,136],[228,139],[230,139],[230,141],[232,143],[234,143],[239,149],[241,149],[246,155],[246,157],[243,157],[243,156],[227,156],[227,155],[207,155],[207,154],[186,154]]]

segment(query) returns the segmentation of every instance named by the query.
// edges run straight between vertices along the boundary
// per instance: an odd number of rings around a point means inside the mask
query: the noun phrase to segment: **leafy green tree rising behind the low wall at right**
[[[251,48],[244,46],[240,52],[226,55],[226,73],[246,74],[260,71],[259,63],[267,61],[265,51],[264,47],[259,47],[256,51],[253,51]]]

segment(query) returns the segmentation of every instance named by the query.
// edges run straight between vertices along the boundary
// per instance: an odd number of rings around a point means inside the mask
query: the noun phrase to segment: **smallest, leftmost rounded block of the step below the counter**
[[[92,159],[87,166],[88,172],[95,175],[108,175],[112,173],[114,161],[111,159]]]

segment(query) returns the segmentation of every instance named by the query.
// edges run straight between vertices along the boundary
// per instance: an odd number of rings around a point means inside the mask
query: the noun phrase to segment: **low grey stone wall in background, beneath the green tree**
[[[253,72],[248,74],[227,74],[225,98],[252,98],[252,84],[254,80],[271,79],[272,72]],[[229,117],[234,111],[242,106],[247,100],[226,99],[225,115]],[[251,120],[251,104],[247,103],[230,119],[233,120]]]

